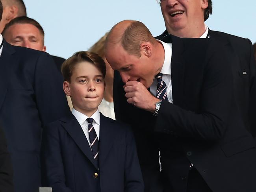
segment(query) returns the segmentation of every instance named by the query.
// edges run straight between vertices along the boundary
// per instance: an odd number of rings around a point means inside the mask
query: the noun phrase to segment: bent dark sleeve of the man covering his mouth
[[[211,48],[207,55],[202,65],[202,87],[195,87],[200,89],[198,111],[186,109],[186,105],[182,108],[163,101],[158,112],[155,131],[202,140],[218,140],[223,137],[233,99],[232,72],[228,56],[222,48],[219,50]]]

